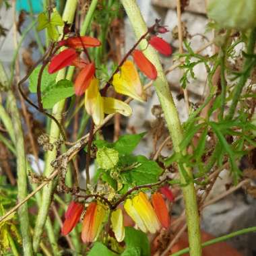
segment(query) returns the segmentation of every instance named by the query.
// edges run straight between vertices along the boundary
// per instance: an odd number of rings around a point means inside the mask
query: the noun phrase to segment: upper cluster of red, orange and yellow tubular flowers
[[[167,30],[166,30],[167,31]],[[170,44],[158,36],[147,38],[148,43],[163,55],[170,55],[172,49]],[[73,65],[80,69],[75,79],[75,94],[82,96],[85,94],[85,108],[96,125],[101,125],[104,120],[104,114],[120,113],[129,117],[132,113],[131,107],[121,100],[105,97],[100,92],[99,80],[96,78],[96,67],[93,61],[90,61],[87,48],[98,47],[101,43],[97,38],[90,36],[73,36],[58,42],[58,46],[65,46],[67,49],[61,51],[51,59],[48,71],[55,73],[64,67]],[[87,60],[79,55],[83,51],[87,55]],[[125,59],[121,62],[115,71],[108,85],[112,85],[119,94],[124,94],[135,100],[145,101],[146,94],[139,79],[137,69],[132,61],[127,60],[131,55],[133,61],[144,75],[149,79],[156,79],[158,74],[156,67],[146,58],[143,51],[132,49]]]

